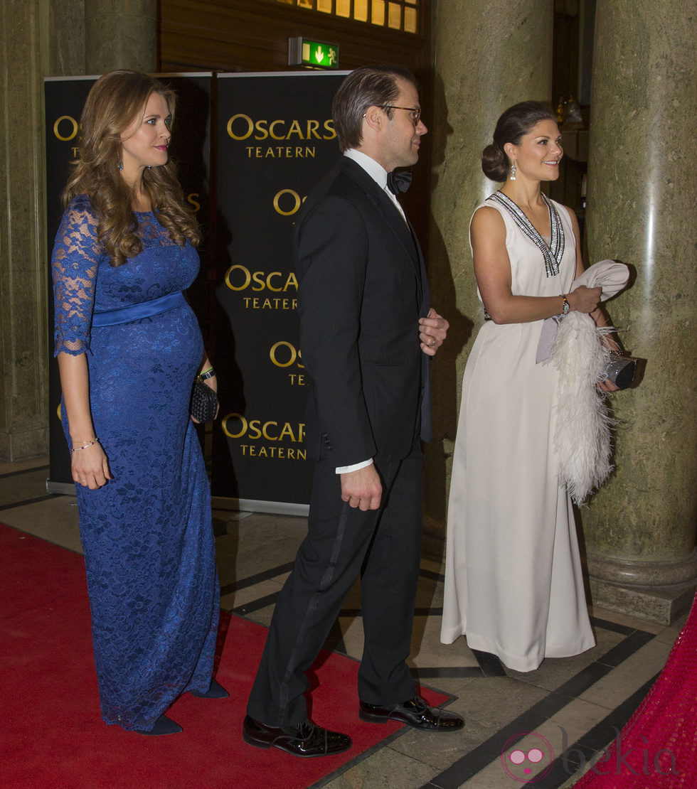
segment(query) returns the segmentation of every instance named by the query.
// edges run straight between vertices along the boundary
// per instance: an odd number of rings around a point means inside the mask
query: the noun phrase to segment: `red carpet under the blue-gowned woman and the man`
[[[267,631],[226,614],[217,679],[229,699],[185,694],[171,707],[184,728],[178,735],[148,738],[107,726],[99,716],[82,557],[4,525],[0,555],[3,789],[303,789],[399,729],[358,720],[358,663],[323,653],[313,716],[350,733],[353,748],[298,759],[246,745],[242,719]],[[435,705],[447,698],[422,692]]]

